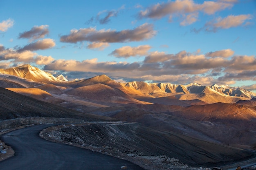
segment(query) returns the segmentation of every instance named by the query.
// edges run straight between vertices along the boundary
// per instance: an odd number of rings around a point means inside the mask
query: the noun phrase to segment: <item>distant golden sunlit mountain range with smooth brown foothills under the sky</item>
[[[53,94],[62,93],[83,97],[96,103],[97,101],[106,103],[108,99],[107,103],[158,103],[185,106],[218,102],[236,103],[256,97],[255,93],[243,88],[218,86],[217,84],[204,86],[197,83],[187,85],[146,82],[118,83],[106,75],[68,81],[63,75],[54,77],[29,64],[0,69],[0,73],[2,73],[0,74],[0,86],[4,88],[39,88]],[[18,92],[17,89],[12,90]],[[20,93],[22,92],[20,91]],[[164,100],[161,99],[163,97]],[[176,101],[174,101],[175,99]]]

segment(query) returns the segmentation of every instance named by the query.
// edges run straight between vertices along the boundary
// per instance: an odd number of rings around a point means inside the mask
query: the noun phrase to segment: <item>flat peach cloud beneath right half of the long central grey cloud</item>
[[[115,57],[124,57],[128,58],[131,56],[143,56],[148,53],[148,50],[151,49],[150,45],[141,45],[137,47],[132,46],[123,46],[119,49],[115,49],[110,53],[110,55],[114,55]]]

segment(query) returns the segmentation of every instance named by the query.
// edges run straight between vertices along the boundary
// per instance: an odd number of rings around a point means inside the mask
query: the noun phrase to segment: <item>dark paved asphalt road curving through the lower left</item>
[[[98,152],[57,144],[38,136],[52,125],[36,125],[3,134],[0,139],[15,156],[0,162],[0,170],[143,170],[139,166]]]

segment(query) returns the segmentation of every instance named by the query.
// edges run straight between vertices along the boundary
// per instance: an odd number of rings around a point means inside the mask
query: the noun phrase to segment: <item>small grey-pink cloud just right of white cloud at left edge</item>
[[[18,38],[27,38],[30,40],[37,40],[39,38],[44,38],[45,35],[49,34],[48,25],[33,26],[29,31],[19,33]]]

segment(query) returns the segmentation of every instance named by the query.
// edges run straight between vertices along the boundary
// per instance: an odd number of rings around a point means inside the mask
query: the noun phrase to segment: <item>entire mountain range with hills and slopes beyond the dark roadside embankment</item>
[[[154,130],[167,130],[216,145],[256,149],[256,94],[239,87],[120,83],[107,75],[68,81],[63,75],[54,77],[29,64],[0,69],[0,87],[1,100],[5,100],[6,106],[0,119],[33,116],[32,112],[61,117],[60,113],[51,115],[49,110],[64,107],[67,110],[63,117],[72,117],[73,110],[74,117],[97,115],[97,119],[138,122]],[[12,96],[10,101],[8,94]],[[12,107],[8,103],[18,103],[15,97],[19,102],[31,103],[28,108],[34,110],[26,115],[18,104],[16,110],[8,111]],[[36,112],[39,105],[51,109]],[[202,147],[197,143],[195,150]]]

